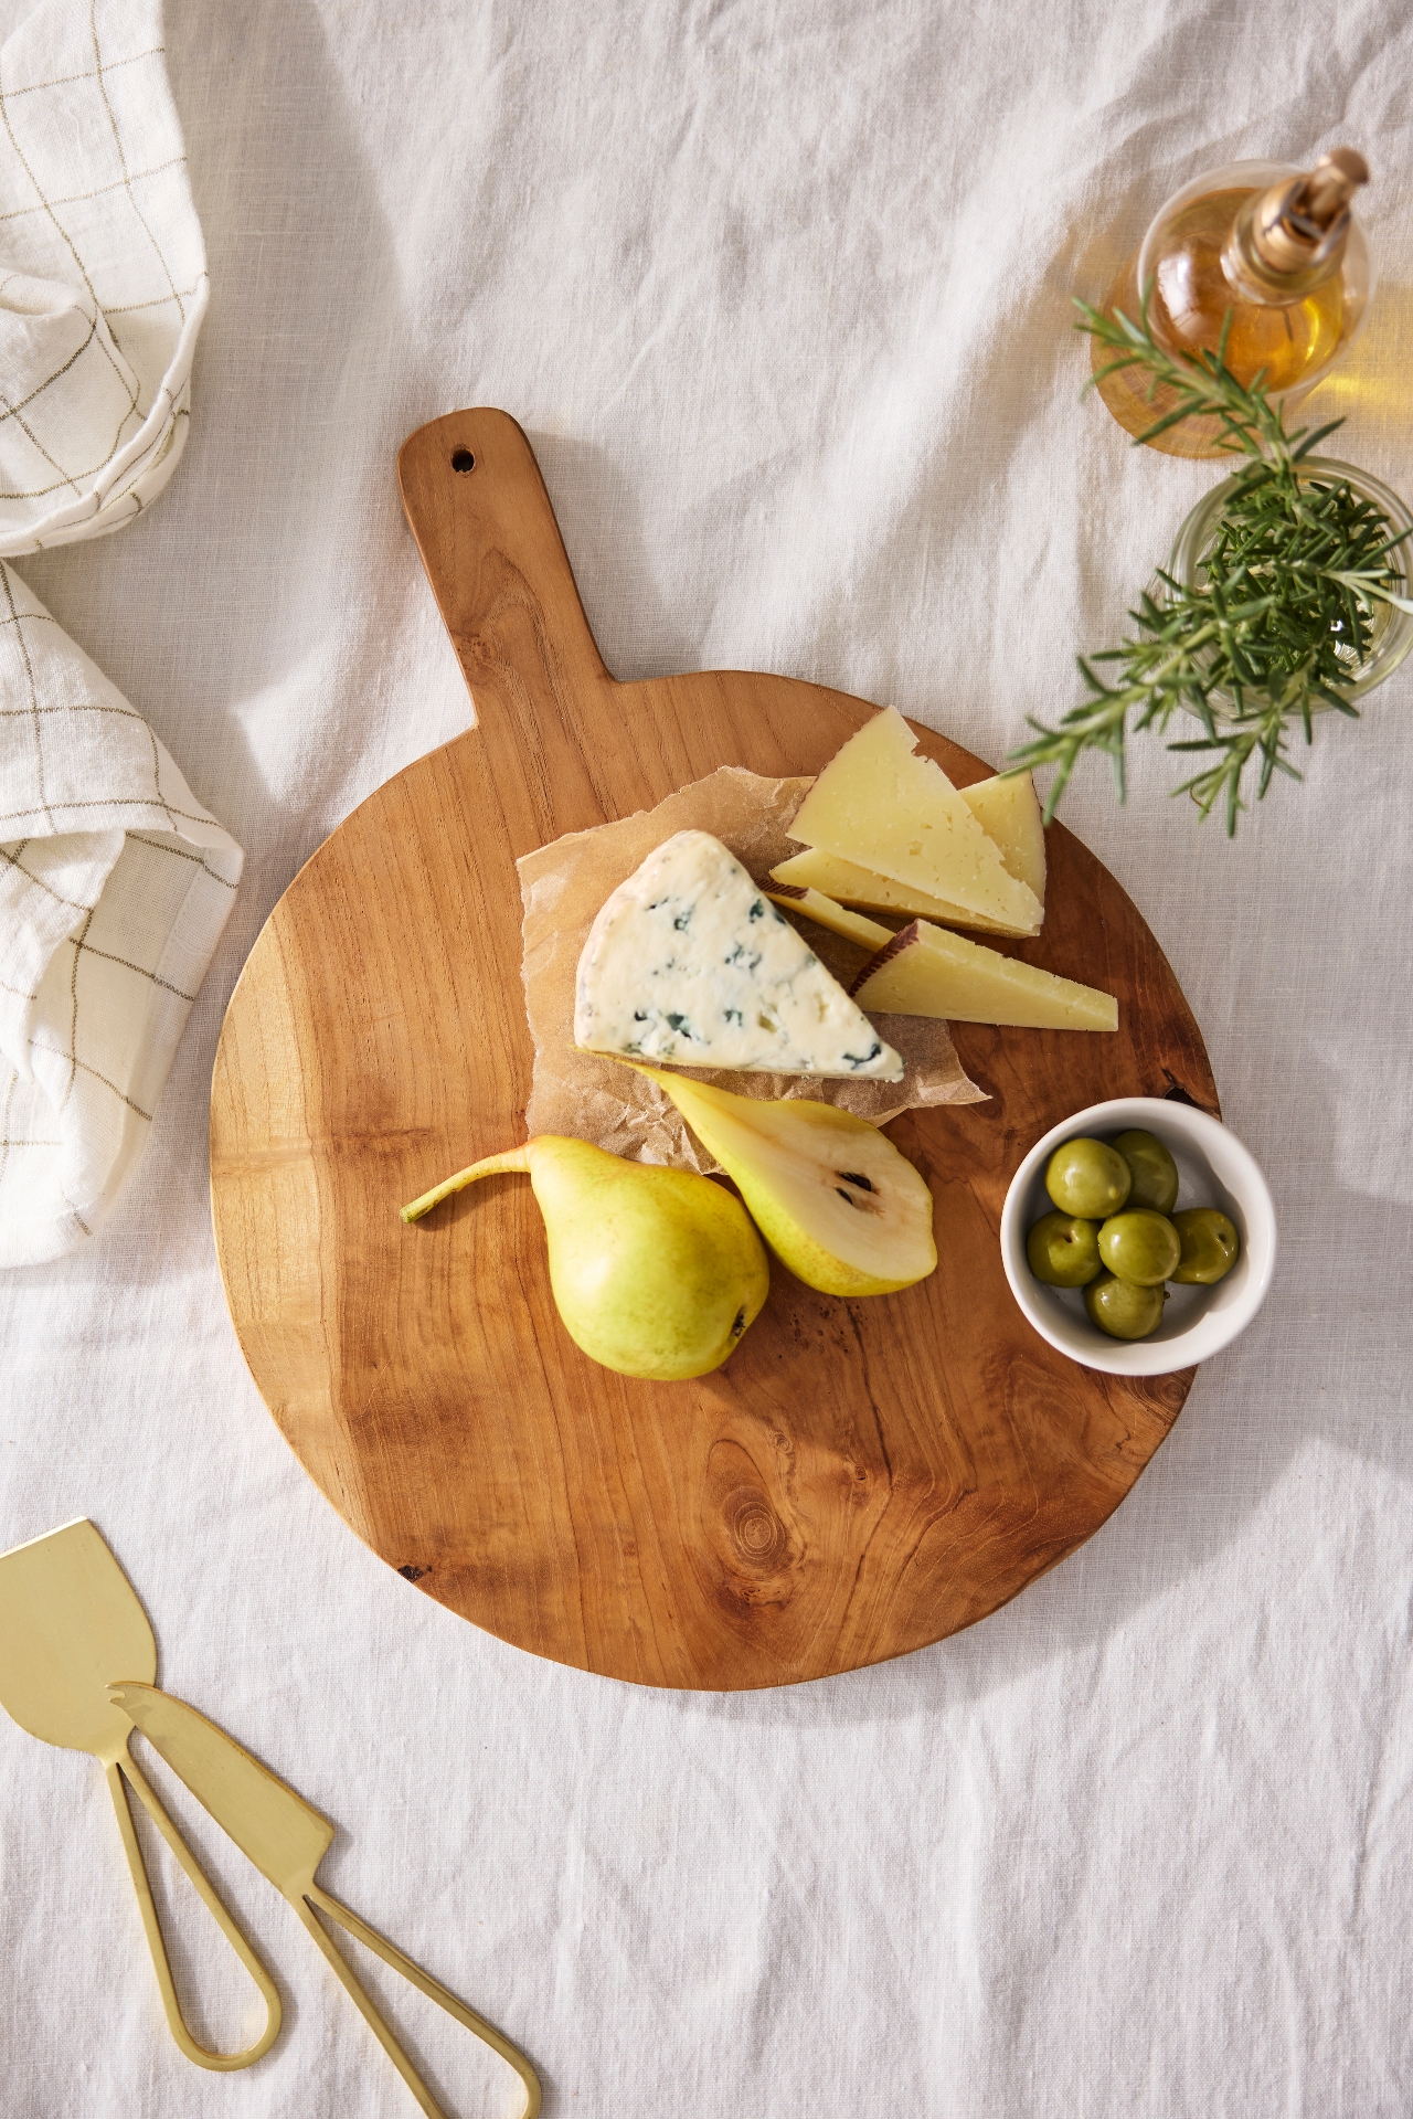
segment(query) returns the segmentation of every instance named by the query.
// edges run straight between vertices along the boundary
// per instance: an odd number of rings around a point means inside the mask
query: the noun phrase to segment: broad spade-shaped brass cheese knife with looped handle
[[[127,1752],[131,1723],[114,1712],[106,1691],[123,1672],[155,1678],[157,1642],[136,1589],[93,1524],[81,1517],[0,1553],[0,1706],[42,1744],[102,1759],[172,2036],[199,2068],[248,2068],[275,2043],[280,1994]],[[265,1998],[265,2030],[244,2053],[208,2051],[182,2022],[125,1784]]]

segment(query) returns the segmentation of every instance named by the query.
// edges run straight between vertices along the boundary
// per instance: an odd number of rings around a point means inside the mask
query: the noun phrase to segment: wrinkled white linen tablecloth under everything
[[[551,2115],[1405,2115],[1413,674],[1235,845],[1157,750],[1127,809],[1078,776],[1271,1176],[1280,1276],[1110,1526],[905,1661],[650,1693],[398,1581],[246,1375],[205,1106],[280,890],[466,723],[394,489],[413,426],[517,413],[616,674],[786,670],[1000,759],[1214,477],[1080,405],[1070,333],[1188,176],[1369,155],[1383,288],[1320,403],[1413,489],[1407,11],[169,0],[167,47],[201,417],[150,519],[19,570],[246,886],[110,1223],[0,1280],[0,1547],[95,1517],[165,1682],[337,1818],[324,1882],[530,2047]],[[201,1827],[290,2007],[246,2075],[180,2060],[97,1767],[0,1721],[0,1776],[6,2119],[411,2111]],[[394,2009],[451,2108],[515,2108]]]

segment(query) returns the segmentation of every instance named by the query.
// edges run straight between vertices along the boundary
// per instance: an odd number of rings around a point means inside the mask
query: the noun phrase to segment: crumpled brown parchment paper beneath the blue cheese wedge
[[[534,1038],[534,1083],[525,1125],[530,1136],[570,1134],[638,1163],[674,1163],[710,1172],[718,1165],[697,1144],[661,1089],[616,1060],[574,1045],[574,975],[604,898],[674,831],[710,831],[763,882],[775,862],[799,852],[786,826],[809,780],[763,780],[737,765],[695,780],[614,824],[574,831],[536,848],[519,862],[525,905],[525,1013]],[[782,907],[792,918],[788,907]],[[847,990],[866,951],[811,920],[799,922],[820,962]],[[947,1023],[924,1015],[873,1015],[871,1021],[902,1057],[902,1081],[820,1081],[803,1074],[733,1074],[691,1068],[697,1081],[737,1096],[807,1096],[841,1104],[883,1125],[922,1104],[977,1104],[985,1091],[968,1081]]]

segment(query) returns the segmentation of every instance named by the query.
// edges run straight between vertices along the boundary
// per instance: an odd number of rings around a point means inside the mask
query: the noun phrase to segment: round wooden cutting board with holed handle
[[[1129,1382],[1051,1352],[1010,1299],[998,1225],[1068,1112],[1110,1096],[1216,1112],[1197,1023],[1119,884],[1051,826],[1044,932],[1017,954],[1119,994],[1123,1028],[955,1028],[989,1102],[888,1127],[932,1185],[936,1274],[835,1301],[773,1263],[716,1375],[595,1367],[555,1314],[525,1180],[398,1218],[525,1136],[515,858],[718,765],[820,771],[871,708],[737,672],[614,682],[502,411],[419,428],[400,481],[477,727],[335,831],[231,998],[212,1206],[265,1403],[373,1551],[536,1655],[727,1691],[941,1640],[1097,1530],[1188,1392],[1193,1371]],[[989,771],[919,735],[958,784]]]

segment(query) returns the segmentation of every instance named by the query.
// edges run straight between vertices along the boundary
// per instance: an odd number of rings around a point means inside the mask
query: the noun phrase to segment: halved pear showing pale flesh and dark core
[[[892,1295],[936,1267],[932,1193],[877,1125],[640,1066],[735,1180],[761,1235],[822,1295]]]

